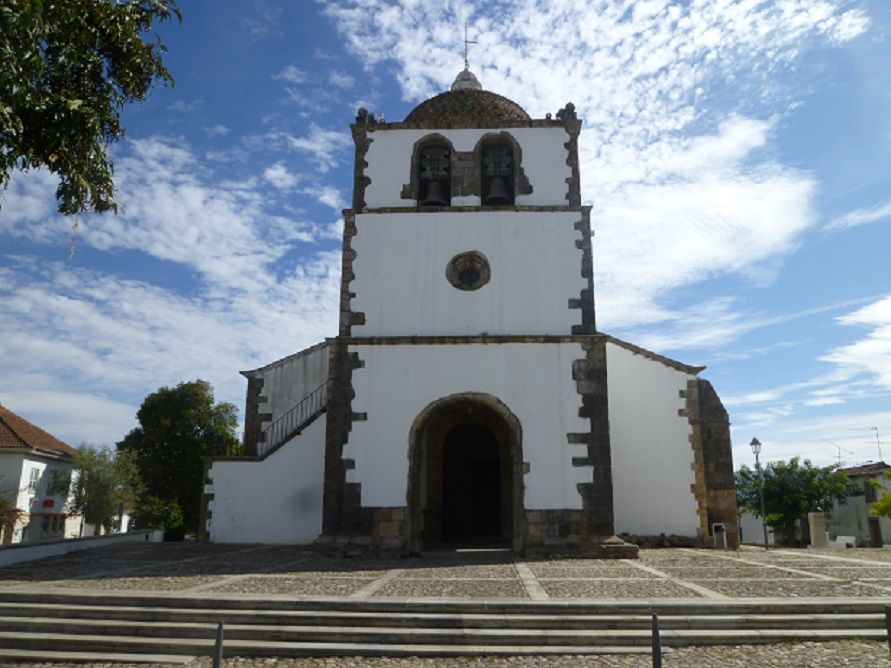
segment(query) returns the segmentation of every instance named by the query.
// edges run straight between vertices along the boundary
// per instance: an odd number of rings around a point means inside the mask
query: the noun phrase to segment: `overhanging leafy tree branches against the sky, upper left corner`
[[[176,0],[3,0],[0,3],[0,188],[12,170],[58,174],[64,214],[117,210],[109,143],[125,103],[173,83],[156,21]]]

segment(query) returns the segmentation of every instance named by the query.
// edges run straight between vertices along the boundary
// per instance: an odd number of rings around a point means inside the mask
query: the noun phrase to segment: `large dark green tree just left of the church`
[[[144,499],[137,503],[137,522],[149,526],[155,521],[167,529],[182,526],[186,531],[197,531],[204,477],[202,457],[239,451],[235,406],[215,404],[210,383],[196,380],[153,392],[136,416],[139,426],[118,443],[118,449],[132,453],[145,486]],[[175,503],[179,514],[173,505],[166,506],[165,511],[162,501]],[[159,514],[164,512],[170,515],[160,521]]]

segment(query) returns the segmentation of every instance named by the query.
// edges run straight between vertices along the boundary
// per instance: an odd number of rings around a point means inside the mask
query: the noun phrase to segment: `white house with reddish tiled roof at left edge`
[[[69,518],[74,448],[0,406],[0,497],[14,517],[0,521],[0,544],[77,535]]]

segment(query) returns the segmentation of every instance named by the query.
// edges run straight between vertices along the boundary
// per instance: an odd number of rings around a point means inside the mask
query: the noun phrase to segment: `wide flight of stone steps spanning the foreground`
[[[664,648],[884,640],[881,601],[430,601],[0,592],[0,663],[183,663],[227,657],[649,653]],[[670,650],[669,650],[670,651]]]

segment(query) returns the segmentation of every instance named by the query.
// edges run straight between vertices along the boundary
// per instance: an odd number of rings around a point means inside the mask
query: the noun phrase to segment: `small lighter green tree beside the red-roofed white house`
[[[84,521],[110,531],[121,506],[138,493],[138,480],[128,475],[127,462],[113,450],[81,444],[74,453],[74,489],[72,510]]]

